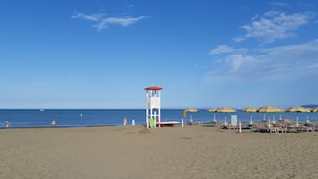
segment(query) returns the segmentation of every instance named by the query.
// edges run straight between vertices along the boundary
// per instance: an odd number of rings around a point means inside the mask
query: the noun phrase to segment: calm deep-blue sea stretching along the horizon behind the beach
[[[51,121],[56,121],[57,127],[85,127],[85,126],[123,126],[124,118],[128,125],[135,121],[135,125],[145,125],[146,110],[0,110],[0,128],[4,128],[5,121],[9,120],[12,127],[51,127]],[[229,122],[231,116],[236,115],[237,120],[253,122],[262,120],[283,120],[289,118],[291,121],[305,122],[318,121],[318,112],[315,113],[247,113],[238,110],[235,113],[211,113],[200,110],[196,113],[187,113],[185,122],[197,121],[208,123],[214,121]],[[183,118],[183,110],[163,109],[161,110],[161,121],[180,121]]]

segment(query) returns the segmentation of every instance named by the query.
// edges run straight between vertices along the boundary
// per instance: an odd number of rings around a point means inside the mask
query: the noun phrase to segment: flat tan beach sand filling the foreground
[[[0,130],[0,178],[318,178],[318,133],[208,126]]]

